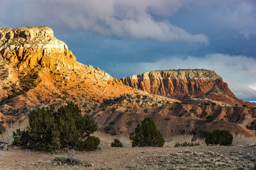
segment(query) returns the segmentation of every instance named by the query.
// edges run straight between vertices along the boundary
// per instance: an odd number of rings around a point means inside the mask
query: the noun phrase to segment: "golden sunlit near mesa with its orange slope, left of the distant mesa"
[[[68,101],[88,109],[103,99],[134,93],[105,71],[77,62],[48,27],[0,29],[0,80],[4,114]]]

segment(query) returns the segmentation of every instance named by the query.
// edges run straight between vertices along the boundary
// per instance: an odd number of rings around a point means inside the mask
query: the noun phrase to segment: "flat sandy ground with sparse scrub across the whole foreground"
[[[67,153],[44,153],[10,148],[0,151],[1,169],[253,169],[255,147],[194,146],[180,148],[104,148],[76,152],[81,164],[52,162]],[[90,165],[90,167],[87,167]]]

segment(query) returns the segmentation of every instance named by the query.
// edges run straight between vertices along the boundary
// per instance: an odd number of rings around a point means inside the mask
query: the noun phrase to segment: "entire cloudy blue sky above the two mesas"
[[[1,27],[46,25],[115,78],[211,69],[256,101],[255,0],[1,0]]]

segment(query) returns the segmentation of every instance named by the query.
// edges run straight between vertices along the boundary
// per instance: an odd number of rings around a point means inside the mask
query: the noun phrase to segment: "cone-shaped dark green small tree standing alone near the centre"
[[[148,117],[137,125],[135,134],[131,133],[130,139],[132,140],[132,147],[162,147],[164,145],[162,134],[157,130],[153,119]]]

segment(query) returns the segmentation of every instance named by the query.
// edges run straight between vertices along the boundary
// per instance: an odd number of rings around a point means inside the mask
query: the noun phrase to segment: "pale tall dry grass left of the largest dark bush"
[[[24,130],[28,126],[28,120],[24,120],[22,122],[15,122],[9,124],[6,127],[6,131],[0,136],[0,141],[4,141],[6,143],[12,144],[13,142],[13,132],[17,129]]]

